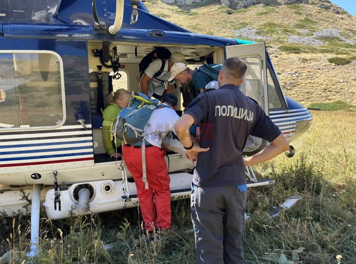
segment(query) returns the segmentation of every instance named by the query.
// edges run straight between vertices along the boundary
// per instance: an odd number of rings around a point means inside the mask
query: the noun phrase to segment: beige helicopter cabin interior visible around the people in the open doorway
[[[97,109],[98,102],[98,71],[101,68],[102,73],[102,87],[103,98],[108,96],[109,84],[112,84],[113,91],[119,88],[125,88],[128,91],[138,91],[140,81],[139,63],[141,60],[153,50],[154,47],[164,46],[172,53],[180,52],[184,55],[185,60],[191,66],[201,65],[204,63],[200,58],[203,56],[212,56],[214,63],[222,63],[223,48],[221,47],[204,47],[204,46],[179,46],[179,45],[157,45],[154,43],[142,43],[137,45],[111,42],[109,46],[110,56],[114,57],[113,48],[117,49],[117,56],[119,58],[120,68],[119,73],[121,78],[114,80],[109,77],[111,68],[102,66],[99,57],[95,57],[93,50],[102,50],[102,42],[88,41],[88,58],[89,58],[89,86],[90,86],[90,107],[91,107],[91,120],[92,120],[92,135],[94,141],[94,163],[102,164],[107,162],[115,162],[115,158],[110,158],[106,154],[102,141],[102,116]],[[110,62],[107,63],[111,65]],[[98,67],[99,66],[99,67]],[[102,66],[102,67],[100,67]],[[181,109],[181,91],[179,85],[174,93],[178,97],[177,113],[182,114]],[[100,96],[99,96],[100,97]],[[119,158],[118,160],[121,160]]]

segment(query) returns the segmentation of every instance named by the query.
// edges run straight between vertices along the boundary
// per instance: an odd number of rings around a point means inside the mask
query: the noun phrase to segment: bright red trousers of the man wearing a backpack
[[[137,197],[140,200],[142,218],[147,231],[171,226],[171,178],[165,161],[166,152],[158,147],[146,148],[146,171],[148,189],[142,181],[141,148],[124,146],[123,158],[127,169],[132,174]],[[156,207],[153,201],[153,191],[156,196]]]

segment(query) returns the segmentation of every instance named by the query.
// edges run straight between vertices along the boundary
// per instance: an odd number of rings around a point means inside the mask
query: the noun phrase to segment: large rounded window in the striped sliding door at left
[[[0,52],[0,129],[64,122],[63,63],[54,52]]]

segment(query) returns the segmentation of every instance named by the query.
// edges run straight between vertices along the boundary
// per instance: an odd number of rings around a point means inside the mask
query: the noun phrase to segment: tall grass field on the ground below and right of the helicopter
[[[280,155],[254,168],[259,178],[272,177],[276,183],[248,191],[247,213],[251,218],[246,221],[244,236],[246,263],[285,263],[266,260],[266,256],[280,260],[282,255],[291,264],[334,264],[337,255],[343,256],[342,264],[356,263],[356,112],[312,114],[310,130],[293,142],[293,158]],[[269,219],[267,213],[273,206],[296,194],[302,195],[302,200]],[[139,239],[143,230],[137,208],[100,214],[101,221],[98,217],[54,223],[42,219],[41,253],[31,263],[121,264],[134,254],[137,264],[194,264],[189,201],[173,202],[172,214],[177,231],[151,245]],[[28,261],[29,219],[16,219],[14,224],[8,218],[0,220],[0,246],[5,251],[14,249],[20,259],[11,264]],[[106,251],[103,245],[107,244],[111,247]],[[300,248],[304,249],[298,252]]]

